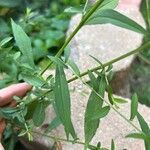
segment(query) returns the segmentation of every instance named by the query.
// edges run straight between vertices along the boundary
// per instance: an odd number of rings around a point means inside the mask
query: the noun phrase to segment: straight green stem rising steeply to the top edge
[[[93,7],[90,9],[89,12],[87,12],[85,14],[85,16],[83,16],[81,22],[79,23],[79,25],[76,27],[76,29],[72,32],[72,34],[67,38],[66,42],[64,43],[64,45],[62,46],[62,48],[58,51],[58,53],[55,55],[55,57],[60,57],[61,54],[64,52],[66,46],[70,43],[70,41],[72,40],[72,38],[77,34],[77,32],[81,29],[81,27],[85,24],[85,22],[89,19],[89,17],[97,10],[97,8],[101,5],[101,3],[104,0],[98,0]],[[40,73],[40,75],[43,75],[45,73],[45,71],[53,64],[53,62],[51,61]]]

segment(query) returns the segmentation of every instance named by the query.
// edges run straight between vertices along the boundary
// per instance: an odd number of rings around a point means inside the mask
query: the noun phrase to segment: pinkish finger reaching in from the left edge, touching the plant
[[[27,83],[19,83],[0,90],[0,106],[10,103],[13,96],[24,96],[31,88],[32,86]]]

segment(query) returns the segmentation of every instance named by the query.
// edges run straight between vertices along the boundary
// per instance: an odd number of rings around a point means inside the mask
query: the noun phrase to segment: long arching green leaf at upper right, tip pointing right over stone
[[[86,22],[86,24],[88,25],[106,23],[111,23],[113,25],[126,28],[138,33],[147,34],[146,30],[141,25],[124,16],[123,14],[111,9],[101,10],[98,14],[93,15]]]

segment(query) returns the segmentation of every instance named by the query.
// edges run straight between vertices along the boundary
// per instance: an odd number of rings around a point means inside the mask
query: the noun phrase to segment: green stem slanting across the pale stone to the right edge
[[[124,54],[124,55],[122,55],[122,56],[120,56],[120,57],[117,57],[117,58],[115,58],[115,59],[113,59],[113,60],[111,60],[111,61],[109,61],[109,62],[103,64],[103,67],[107,67],[107,66],[109,66],[109,65],[111,65],[111,64],[114,64],[114,63],[116,63],[116,62],[118,62],[118,61],[120,61],[120,60],[122,60],[122,59],[125,59],[125,58],[127,58],[127,57],[129,57],[129,56],[131,56],[131,55],[133,55],[133,54],[136,54],[136,53],[138,53],[138,52],[140,52],[140,51],[143,51],[143,50],[145,50],[145,49],[148,49],[149,47],[150,47],[150,42],[148,42],[148,43],[142,45],[141,47],[139,47],[139,48],[137,48],[137,49],[135,49],[135,50],[133,50],[133,51],[131,51],[131,52],[128,52],[128,53],[126,53],[126,54]],[[99,69],[102,69],[102,66],[98,66],[98,67],[92,68],[92,69],[90,69],[90,71],[93,72],[93,71],[97,71],[97,70],[99,70]],[[85,75],[87,75],[87,74],[88,74],[88,71],[85,71],[85,72],[83,72],[83,73],[80,74],[80,77],[83,77],[83,76],[85,76]],[[75,77],[69,79],[69,80],[68,80],[68,83],[70,83],[70,82],[72,82],[72,81],[75,81],[76,79],[78,79],[78,77],[75,76]]]

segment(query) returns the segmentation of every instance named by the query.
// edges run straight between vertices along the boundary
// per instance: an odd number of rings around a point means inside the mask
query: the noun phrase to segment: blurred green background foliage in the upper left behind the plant
[[[65,40],[71,18],[64,13],[70,6],[79,6],[85,0],[0,0],[0,41],[12,36],[10,19],[22,26],[31,39],[36,65],[44,67]],[[14,45],[14,47],[10,47]],[[9,51],[9,55],[7,55]],[[12,61],[17,47],[14,40],[0,48],[0,72],[5,72],[0,80],[0,88],[16,83],[18,67]]]

